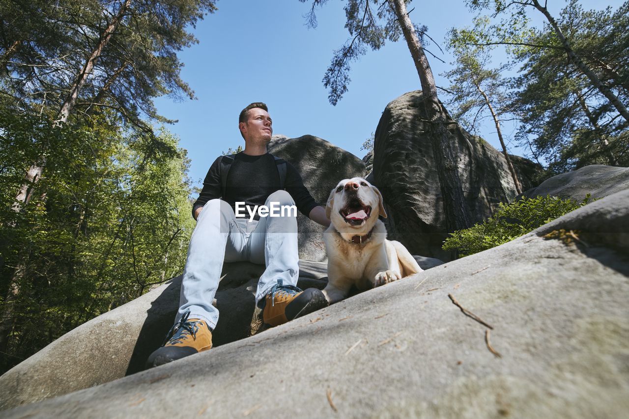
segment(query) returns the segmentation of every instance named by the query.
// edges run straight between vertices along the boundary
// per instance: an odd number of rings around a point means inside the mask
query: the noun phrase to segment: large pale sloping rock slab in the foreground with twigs
[[[625,417],[628,253],[623,191],[259,335],[3,416]]]

